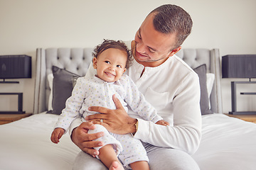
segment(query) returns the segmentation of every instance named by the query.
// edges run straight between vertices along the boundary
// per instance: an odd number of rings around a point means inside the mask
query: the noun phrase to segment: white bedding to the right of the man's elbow
[[[203,115],[200,147],[192,157],[201,169],[256,169],[256,124],[223,114]]]

